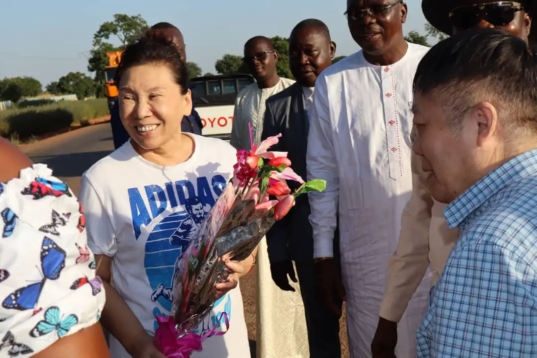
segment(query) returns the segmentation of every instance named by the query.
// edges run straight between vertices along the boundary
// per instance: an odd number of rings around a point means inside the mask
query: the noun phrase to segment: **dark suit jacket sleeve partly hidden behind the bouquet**
[[[263,135],[262,140],[265,140],[268,137],[276,136],[281,133],[279,128],[278,121],[274,118],[274,113],[272,112],[272,106],[267,101],[265,119],[263,121]],[[271,147],[271,151],[282,151],[286,152],[285,148],[285,139],[280,138],[280,141],[277,144],[274,144]],[[272,225],[272,228],[267,232],[267,247],[269,250],[269,261],[270,262],[281,262],[289,258],[288,253],[288,225],[292,221],[293,208],[285,215],[281,220],[275,222]]]

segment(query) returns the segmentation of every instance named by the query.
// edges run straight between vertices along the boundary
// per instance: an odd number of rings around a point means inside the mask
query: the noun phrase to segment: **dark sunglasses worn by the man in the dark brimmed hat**
[[[494,26],[505,26],[514,20],[514,15],[524,7],[520,3],[498,1],[494,3],[458,6],[449,12],[453,27],[468,30],[481,20]]]

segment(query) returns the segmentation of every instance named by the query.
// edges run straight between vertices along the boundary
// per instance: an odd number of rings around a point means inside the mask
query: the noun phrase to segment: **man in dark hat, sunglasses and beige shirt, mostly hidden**
[[[423,0],[422,9],[425,19],[447,35],[475,27],[497,27],[528,42],[530,5],[529,1]],[[433,284],[438,280],[458,238],[458,230],[447,227],[443,215],[446,204],[434,200],[425,184],[420,160],[412,154],[412,196],[403,211],[400,240],[388,266],[388,284],[372,344],[374,358],[393,357],[397,322],[410,297],[429,265],[434,270]]]

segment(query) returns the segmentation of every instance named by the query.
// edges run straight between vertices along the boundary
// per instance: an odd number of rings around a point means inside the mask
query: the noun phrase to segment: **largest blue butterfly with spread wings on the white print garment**
[[[14,291],[4,299],[2,307],[19,311],[34,309],[37,306],[45,281],[47,279],[57,280],[60,277],[60,273],[66,265],[66,256],[66,252],[60,246],[56,245],[52,239],[45,237],[41,244],[43,279]]]

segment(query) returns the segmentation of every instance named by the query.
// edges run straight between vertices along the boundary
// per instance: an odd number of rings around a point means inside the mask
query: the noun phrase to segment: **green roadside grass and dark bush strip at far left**
[[[62,101],[39,107],[6,109],[0,112],[0,134],[5,138],[18,136],[25,141],[107,115],[107,99]]]

